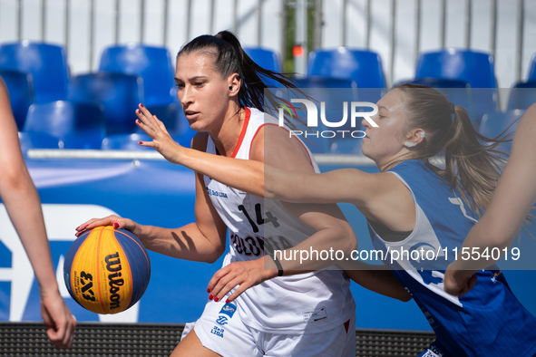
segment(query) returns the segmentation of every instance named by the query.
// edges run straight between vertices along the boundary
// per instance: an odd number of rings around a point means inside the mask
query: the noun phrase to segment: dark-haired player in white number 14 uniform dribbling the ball
[[[287,130],[277,125],[264,125],[261,110],[266,86],[259,75],[291,85],[285,77],[258,67],[229,32],[200,36],[180,50],[175,81],[190,127],[199,131],[192,140],[193,150],[315,172],[316,163],[301,141],[287,140]],[[141,112],[148,113],[142,105],[139,117],[143,117]],[[277,144],[269,159],[265,156],[268,137]],[[232,304],[222,301],[224,294],[211,294],[213,301],[206,304],[173,356],[356,355],[352,329],[356,304],[349,279],[340,270],[287,271],[298,274],[280,276],[283,271],[278,260],[264,256],[265,251],[293,246],[355,248],[356,236],[337,207],[286,205],[197,174],[195,214],[195,223],[177,229],[141,226],[114,216],[92,219],[78,228],[79,235],[98,226],[125,228],[152,251],[204,262],[214,262],[224,252],[229,228],[231,245],[224,266],[241,262],[239,267],[248,268],[229,285],[239,285],[239,279],[250,284],[237,289],[242,294]],[[309,266],[309,271],[317,267],[324,266]],[[395,285],[378,280],[379,285],[387,285],[394,292],[391,295],[407,299],[390,272],[380,273],[387,273],[385,282]],[[256,286],[243,292],[251,285]]]

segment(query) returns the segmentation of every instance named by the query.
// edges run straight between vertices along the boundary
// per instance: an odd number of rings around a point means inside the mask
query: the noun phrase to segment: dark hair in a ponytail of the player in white
[[[287,87],[293,91],[300,92],[296,84],[283,74],[268,71],[255,63],[247,53],[244,52],[239,43],[239,39],[229,31],[221,31],[215,36],[204,34],[194,38],[190,43],[185,44],[177,58],[181,54],[196,52],[208,52],[214,54],[214,65],[216,70],[227,77],[232,73],[238,73],[241,79],[239,90],[240,108],[253,107],[259,111],[266,111],[276,115],[278,108],[278,97],[271,91],[266,91],[267,84],[263,81],[278,82],[281,87]],[[302,93],[303,94],[303,93]],[[268,104],[265,106],[265,102]],[[299,121],[299,120],[298,120]],[[301,122],[300,122],[301,123]],[[296,123],[287,122],[291,129],[297,129]]]

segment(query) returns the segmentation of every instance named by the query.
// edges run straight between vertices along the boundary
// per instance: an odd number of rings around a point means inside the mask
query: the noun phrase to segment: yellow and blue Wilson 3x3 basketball
[[[140,300],[151,278],[149,255],[123,229],[95,227],[69,248],[63,278],[73,299],[97,314],[117,314]]]

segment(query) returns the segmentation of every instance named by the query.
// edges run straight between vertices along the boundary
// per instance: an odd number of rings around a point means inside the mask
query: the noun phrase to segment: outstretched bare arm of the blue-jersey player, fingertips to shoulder
[[[136,115],[136,124],[152,139],[140,141],[141,146],[159,151],[171,163],[258,197],[294,203],[349,202],[365,207],[370,198],[377,200],[379,196],[387,196],[393,187],[393,176],[390,174],[369,174],[358,169],[338,169],[317,174],[292,166],[278,167],[277,162],[231,159],[190,150],[172,140],[163,123],[141,104]],[[275,155],[268,154],[268,157]]]

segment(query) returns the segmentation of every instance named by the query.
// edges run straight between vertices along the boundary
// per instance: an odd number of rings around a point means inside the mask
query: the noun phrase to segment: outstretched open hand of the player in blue
[[[171,163],[180,163],[180,150],[183,148],[171,138],[164,123],[156,115],[152,115],[141,103],[138,107],[139,109],[136,110],[136,115],[138,116],[136,125],[152,139],[152,141],[140,141],[138,144],[157,150]]]

